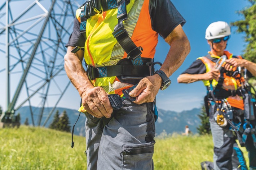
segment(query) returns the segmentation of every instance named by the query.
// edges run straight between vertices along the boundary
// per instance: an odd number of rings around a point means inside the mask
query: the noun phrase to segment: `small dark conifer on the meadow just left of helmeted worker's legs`
[[[200,135],[206,135],[206,134],[211,134],[211,128],[210,128],[210,123],[209,123],[209,116],[207,116],[206,113],[206,108],[204,104],[202,105],[202,109],[198,117],[201,120],[201,125],[197,128],[197,132]]]

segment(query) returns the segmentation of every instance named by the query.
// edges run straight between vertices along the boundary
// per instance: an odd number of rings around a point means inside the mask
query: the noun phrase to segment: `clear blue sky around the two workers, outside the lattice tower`
[[[204,39],[208,25],[219,20],[230,23],[243,19],[243,16],[236,12],[250,6],[250,3],[248,0],[172,0],[172,2],[187,21],[183,29],[190,41],[191,51],[182,66],[170,77],[171,86],[165,91],[159,90],[156,96],[157,106],[172,111],[190,110],[202,105],[206,89],[202,82],[178,84],[178,75],[188,68],[196,58],[206,55],[209,51],[207,41]],[[235,27],[231,28],[231,38],[228,41],[227,50],[234,55],[241,55],[246,45],[244,42],[245,35],[238,34],[235,30]],[[155,61],[163,62],[168,51],[168,44],[159,36]],[[0,87],[5,88],[1,84]],[[1,95],[5,96],[5,94]],[[78,92],[73,86],[70,86],[58,107],[78,109],[79,103]],[[6,109],[5,97],[0,98],[0,105],[3,110]]]

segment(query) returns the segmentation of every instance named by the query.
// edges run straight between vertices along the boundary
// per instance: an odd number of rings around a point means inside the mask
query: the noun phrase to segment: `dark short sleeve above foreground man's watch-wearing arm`
[[[170,0],[150,0],[149,13],[152,29],[164,39],[179,24],[183,26],[186,22]]]

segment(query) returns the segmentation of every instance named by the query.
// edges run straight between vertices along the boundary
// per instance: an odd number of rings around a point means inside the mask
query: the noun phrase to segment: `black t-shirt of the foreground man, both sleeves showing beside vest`
[[[149,13],[152,29],[164,39],[179,24],[183,26],[186,22],[170,0],[149,0]],[[80,34],[80,23],[75,18],[73,32],[66,47],[84,47],[84,44],[85,38]]]

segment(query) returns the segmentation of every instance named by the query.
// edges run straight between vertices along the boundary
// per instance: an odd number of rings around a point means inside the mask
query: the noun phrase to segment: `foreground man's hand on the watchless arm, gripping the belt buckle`
[[[82,105],[89,114],[102,118],[110,118],[113,112],[107,93],[102,87],[87,88],[81,95]]]

